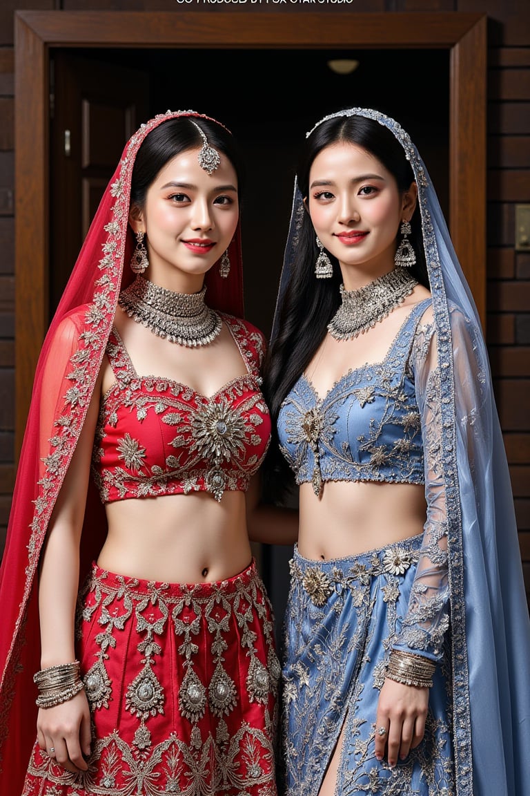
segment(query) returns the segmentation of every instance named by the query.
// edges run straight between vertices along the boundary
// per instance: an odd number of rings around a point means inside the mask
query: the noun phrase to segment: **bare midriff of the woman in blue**
[[[321,497],[300,486],[298,549],[304,558],[358,556],[423,533],[425,487],[384,482],[325,482]]]

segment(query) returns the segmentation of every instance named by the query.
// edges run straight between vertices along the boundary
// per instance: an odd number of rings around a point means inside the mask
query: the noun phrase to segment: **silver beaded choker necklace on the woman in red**
[[[137,276],[118,297],[122,310],[160,338],[194,348],[208,345],[221,331],[221,318],[199,293],[174,293]]]

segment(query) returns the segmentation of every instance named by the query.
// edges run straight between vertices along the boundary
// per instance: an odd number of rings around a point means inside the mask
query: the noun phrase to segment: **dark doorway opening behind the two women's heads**
[[[292,201],[297,151],[305,133],[323,115],[342,107],[375,107],[393,116],[417,142],[418,148],[447,212],[449,197],[449,53],[444,49],[66,49],[51,52],[54,113],[51,119],[52,152],[56,162],[50,170],[50,213],[52,228],[64,229],[68,219],[68,240],[51,236],[50,313],[53,312],[83,237],[87,232],[86,203],[80,197],[83,178],[72,171],[72,185],[61,161],[64,128],[76,122],[65,119],[60,86],[66,70],[83,81],[82,69],[97,66],[113,75],[116,107],[122,100],[118,70],[130,69],[133,92],[144,118],[156,113],[193,108],[213,115],[226,124],[241,142],[246,155],[247,178],[242,205],[242,235],[245,270],[246,314],[269,334],[284,242]],[[353,60],[357,67],[349,74],[334,72],[330,62]],[[243,88],[242,75],[250,89]],[[414,76],[409,80],[408,76]],[[91,76],[92,77],[92,76]],[[124,78],[127,79],[126,77]],[[85,90],[79,87],[81,103],[91,100],[97,90],[93,80]],[[88,96],[84,96],[86,91]],[[106,87],[108,92],[108,87]],[[142,96],[140,96],[142,94]],[[107,95],[108,96],[108,95]],[[108,101],[108,100],[107,100]],[[82,107],[68,107],[67,114],[81,115]],[[79,120],[77,123],[80,124]],[[118,162],[122,138],[106,127],[109,166],[99,167],[91,181],[90,205],[94,211]],[[55,145],[54,145],[55,142]],[[75,146],[75,142],[71,142]],[[60,185],[57,185],[60,181]],[[99,190],[98,190],[99,186]],[[60,197],[68,197],[68,206]],[[83,211],[74,213],[74,208]],[[83,216],[83,217],[80,217]]]

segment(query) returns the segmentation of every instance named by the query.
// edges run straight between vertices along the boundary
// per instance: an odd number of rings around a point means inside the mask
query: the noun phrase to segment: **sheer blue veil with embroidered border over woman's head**
[[[443,478],[450,559],[455,769],[458,796],[530,796],[530,621],[508,464],[486,343],[435,189],[394,119],[350,108],[393,133],[418,185],[441,369]],[[273,321],[290,279],[304,213],[295,182]]]

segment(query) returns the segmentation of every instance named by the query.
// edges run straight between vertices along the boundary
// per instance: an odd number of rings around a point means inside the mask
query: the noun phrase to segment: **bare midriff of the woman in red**
[[[133,498],[106,505],[108,534],[98,565],[164,583],[206,583],[242,572],[252,559],[245,493]]]

